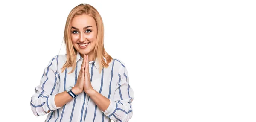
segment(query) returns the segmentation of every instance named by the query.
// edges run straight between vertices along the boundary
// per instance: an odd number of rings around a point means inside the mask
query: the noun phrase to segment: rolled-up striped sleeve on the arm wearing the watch
[[[42,116],[60,108],[56,107],[54,101],[59,82],[57,58],[58,56],[55,56],[49,61],[44,69],[40,85],[35,88],[35,94],[32,95],[30,106],[35,116]]]

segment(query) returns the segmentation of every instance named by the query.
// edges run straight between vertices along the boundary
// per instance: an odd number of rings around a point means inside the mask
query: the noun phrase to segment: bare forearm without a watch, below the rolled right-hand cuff
[[[102,111],[107,110],[108,106],[110,105],[110,100],[105,96],[103,96],[102,94],[98,93],[96,90],[90,90],[89,92],[87,92],[87,95],[90,96],[93,102]]]

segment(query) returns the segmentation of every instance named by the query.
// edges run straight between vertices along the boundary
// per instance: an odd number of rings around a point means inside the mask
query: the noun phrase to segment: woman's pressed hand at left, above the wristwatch
[[[76,85],[72,88],[72,92],[76,95],[81,93],[84,89],[84,74],[85,74],[85,64],[86,64],[86,55],[84,55],[84,60],[81,65],[80,72],[78,74]]]

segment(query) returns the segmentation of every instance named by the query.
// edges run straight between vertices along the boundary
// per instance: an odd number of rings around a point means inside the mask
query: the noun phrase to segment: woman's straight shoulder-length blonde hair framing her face
[[[97,26],[97,39],[96,39],[96,45],[94,47],[94,57],[93,60],[97,58],[99,63],[99,73],[101,73],[102,68],[108,67],[108,63],[112,61],[112,57],[108,55],[108,53],[104,49],[103,44],[103,37],[104,37],[104,27],[102,22],[102,17],[99,15],[99,12],[91,5],[89,4],[80,4],[73,8],[66,21],[65,31],[64,31],[64,41],[66,44],[66,52],[67,52],[67,61],[61,68],[62,72],[68,68],[72,67],[72,73],[76,68],[76,52],[77,50],[73,47],[73,43],[71,41],[71,24],[70,22],[73,20],[74,17],[78,15],[90,15],[93,17],[93,19],[96,22]],[[104,61],[103,56],[106,58],[106,62]],[[61,72],[61,73],[62,73]]]

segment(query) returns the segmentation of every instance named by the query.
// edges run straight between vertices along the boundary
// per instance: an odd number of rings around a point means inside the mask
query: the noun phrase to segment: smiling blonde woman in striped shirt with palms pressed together
[[[71,10],[64,31],[66,55],[53,57],[31,98],[47,122],[127,122],[134,93],[125,64],[104,49],[99,12],[88,4]]]

